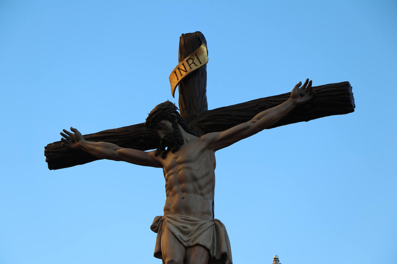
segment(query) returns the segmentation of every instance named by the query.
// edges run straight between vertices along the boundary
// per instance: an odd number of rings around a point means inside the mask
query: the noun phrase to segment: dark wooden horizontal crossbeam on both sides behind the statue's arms
[[[355,104],[352,87],[349,82],[315,86],[313,89],[316,92],[316,96],[312,101],[295,108],[269,128],[354,112]],[[289,98],[290,94],[283,93],[241,104],[206,110],[193,118],[190,126],[195,127],[196,130],[200,130],[204,134],[223,131],[239,123],[247,122],[263,110],[283,103]],[[111,142],[124,148],[135,148],[138,150],[155,149],[160,142],[155,133],[146,130],[144,123],[108,129],[84,135],[84,137],[89,141]],[[100,160],[82,150],[70,150],[62,146],[61,141],[48,144],[45,147],[44,155],[46,156],[48,169],[62,169]]]

